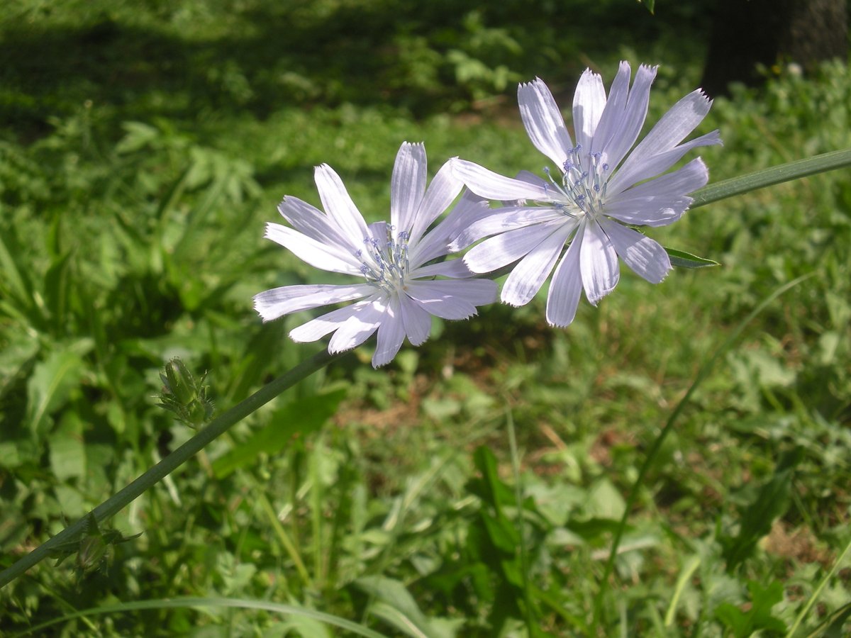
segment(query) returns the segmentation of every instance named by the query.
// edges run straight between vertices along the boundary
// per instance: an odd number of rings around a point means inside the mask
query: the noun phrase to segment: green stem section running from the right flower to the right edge
[[[726,199],[734,195],[741,195],[746,192],[756,191],[766,186],[788,182],[792,179],[800,179],[816,173],[824,173],[836,168],[851,166],[851,149],[844,151],[831,151],[815,157],[789,162],[788,164],[780,164],[771,168],[763,168],[754,173],[724,179],[704,186],[700,191],[692,194],[694,202],[689,208],[698,208],[705,206],[711,202],[717,202],[719,199]]]

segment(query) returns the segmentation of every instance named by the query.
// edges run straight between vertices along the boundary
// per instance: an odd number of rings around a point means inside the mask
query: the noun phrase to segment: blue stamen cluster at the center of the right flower
[[[567,199],[567,202],[558,208],[570,217],[602,214],[603,199],[606,196],[608,164],[601,163],[603,154],[582,155],[581,150],[581,144],[570,149],[568,158],[562,165],[561,183],[553,179],[549,168],[544,169],[551,184]],[[583,160],[587,165],[583,165]],[[545,188],[547,187],[549,185],[545,185]]]

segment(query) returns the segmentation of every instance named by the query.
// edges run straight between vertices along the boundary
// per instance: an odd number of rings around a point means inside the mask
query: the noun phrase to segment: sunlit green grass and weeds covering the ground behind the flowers
[[[0,567],[192,435],[157,407],[169,358],[206,371],[223,411],[323,347],[286,338],[303,316],[262,325],[250,304],[327,281],[261,238],[283,195],[318,203],[313,165],[379,219],[403,140],[425,140],[432,173],[456,155],[543,165],[518,79],[544,77],[567,105],[586,64],[608,82],[620,56],[660,62],[654,120],[700,76],[704,3],[655,17],[501,4],[4,9]],[[725,144],[701,153],[711,179],[851,146],[849,87],[837,64],[717,100],[700,131]],[[658,287],[624,272],[567,330],[545,325],[540,295],[438,323],[379,371],[366,345],[100,526],[139,538],[0,590],[0,633],[61,619],[44,630],[332,635],[314,612],[387,635],[791,628],[849,540],[851,182],[815,175],[651,234],[721,266]],[[603,590],[626,495],[700,366],[808,274],[685,406]],[[275,435],[265,451],[259,432]],[[837,613],[841,633],[849,587],[846,569],[831,574],[803,628]],[[193,602],[157,604],[180,597]]]

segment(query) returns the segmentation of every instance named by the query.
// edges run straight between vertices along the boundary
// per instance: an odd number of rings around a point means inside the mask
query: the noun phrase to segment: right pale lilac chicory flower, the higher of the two
[[[573,322],[583,288],[593,305],[612,292],[620,278],[619,256],[648,282],[665,278],[671,270],[665,248],[629,226],[679,219],[692,202],[688,193],[705,185],[709,174],[700,158],[665,171],[697,146],[721,144],[717,131],[681,143],[711,106],[698,89],[673,105],[629,152],[647,117],[656,67],[640,66],[631,88],[630,75],[629,64],[621,62],[607,98],[597,73],[582,74],[574,94],[575,145],[545,83],[536,78],[520,85],[517,100],[529,139],[558,168],[557,174],[545,168],[547,179],[525,171],[512,179],[472,162],[453,162],[454,174],[471,191],[516,205],[472,223],[452,248],[489,237],[464,258],[474,272],[519,259],[501,294],[511,305],[528,304],[555,269],[546,301],[546,320],[553,326]]]

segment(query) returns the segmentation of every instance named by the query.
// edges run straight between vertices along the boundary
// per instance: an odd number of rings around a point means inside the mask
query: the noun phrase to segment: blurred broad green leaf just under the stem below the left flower
[[[337,411],[346,390],[308,396],[289,402],[271,417],[271,422],[230,452],[213,462],[213,473],[224,478],[235,470],[254,462],[260,453],[277,454],[289,445],[296,434],[305,436],[319,430]]]

